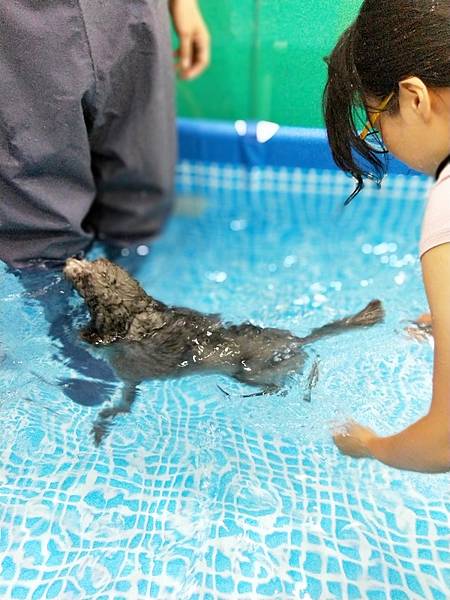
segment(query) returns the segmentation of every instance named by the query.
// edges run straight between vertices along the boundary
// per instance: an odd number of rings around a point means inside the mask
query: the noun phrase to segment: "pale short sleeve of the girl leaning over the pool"
[[[450,163],[439,174],[430,190],[422,221],[419,252],[450,242]]]

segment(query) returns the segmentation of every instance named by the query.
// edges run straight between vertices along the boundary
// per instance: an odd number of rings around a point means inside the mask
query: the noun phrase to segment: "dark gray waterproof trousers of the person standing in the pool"
[[[150,239],[172,202],[167,0],[0,3],[0,259]]]

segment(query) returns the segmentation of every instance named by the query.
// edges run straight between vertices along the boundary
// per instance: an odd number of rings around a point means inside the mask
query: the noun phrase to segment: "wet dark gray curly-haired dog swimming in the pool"
[[[221,373],[252,386],[260,393],[283,388],[289,375],[301,373],[304,346],[328,335],[379,323],[384,310],[372,300],[360,312],[313,329],[298,337],[283,329],[251,323],[229,325],[218,315],[169,307],[149,296],[124,269],[100,258],[70,258],[66,277],[84,298],[91,322],[82,337],[106,351],[124,381],[120,403],[100,411],[93,432],[98,445],[114,415],[129,412],[136,386],[145,379],[179,377],[192,372]],[[309,387],[317,380],[317,364]]]

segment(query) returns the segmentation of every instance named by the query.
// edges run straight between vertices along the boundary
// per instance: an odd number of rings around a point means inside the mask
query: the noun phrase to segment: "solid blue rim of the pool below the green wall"
[[[179,118],[179,160],[226,163],[252,167],[332,169],[325,129],[281,126],[266,142],[256,138],[256,121],[246,123],[244,134],[231,121]],[[418,175],[394,157],[388,157],[388,173]]]

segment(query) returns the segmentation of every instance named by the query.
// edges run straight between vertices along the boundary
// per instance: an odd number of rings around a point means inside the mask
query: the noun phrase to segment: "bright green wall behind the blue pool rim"
[[[178,114],[322,126],[323,57],[361,0],[200,0],[212,64],[178,83]]]

